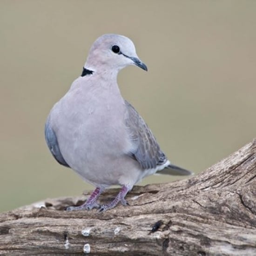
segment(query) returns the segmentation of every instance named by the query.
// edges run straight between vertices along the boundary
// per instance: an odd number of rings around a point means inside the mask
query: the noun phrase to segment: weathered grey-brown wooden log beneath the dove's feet
[[[2,213],[0,254],[256,255],[256,140],[187,180],[135,187],[130,206],[64,211],[87,196]]]

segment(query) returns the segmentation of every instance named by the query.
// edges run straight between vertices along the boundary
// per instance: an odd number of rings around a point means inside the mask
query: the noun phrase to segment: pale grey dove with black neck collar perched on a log
[[[83,205],[67,210],[126,205],[134,184],[158,171],[192,174],[168,161],[145,121],[122,98],[117,74],[128,65],[148,70],[130,39],[102,35],[91,47],[81,76],[47,118],[45,137],[54,158],[96,187]],[[100,206],[97,198],[111,185],[122,188],[112,202]]]

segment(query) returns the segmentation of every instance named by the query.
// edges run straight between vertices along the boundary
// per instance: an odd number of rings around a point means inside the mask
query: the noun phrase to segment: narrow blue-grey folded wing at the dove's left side
[[[54,133],[54,130],[51,128],[49,119],[47,119],[45,124],[45,140],[56,161],[59,162],[61,165],[70,167],[61,154],[61,149],[59,147],[57,137]]]

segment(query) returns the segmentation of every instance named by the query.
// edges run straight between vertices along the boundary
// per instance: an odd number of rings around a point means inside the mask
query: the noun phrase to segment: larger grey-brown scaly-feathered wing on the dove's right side
[[[160,149],[146,122],[128,101],[125,101],[125,105],[127,108],[125,124],[133,145],[129,155],[135,158],[144,169],[156,168],[166,163],[168,159]]]

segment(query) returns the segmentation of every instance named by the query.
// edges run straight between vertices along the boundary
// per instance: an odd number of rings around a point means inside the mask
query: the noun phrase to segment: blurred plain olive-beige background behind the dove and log
[[[172,162],[198,173],[251,141],[255,13],[253,0],[0,0],[0,211],[92,188],[51,156],[44,122],[101,34],[135,42],[148,72],[122,70],[121,92]]]

